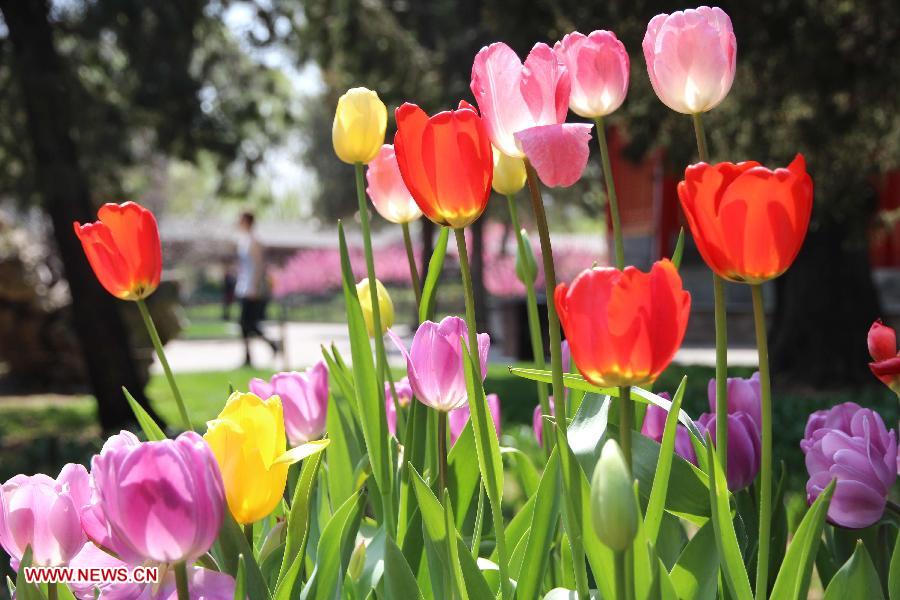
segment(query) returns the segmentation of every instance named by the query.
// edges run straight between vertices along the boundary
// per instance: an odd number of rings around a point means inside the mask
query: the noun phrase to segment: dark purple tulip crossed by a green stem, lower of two
[[[697,428],[716,443],[716,413],[704,413],[697,419]],[[726,478],[732,492],[748,487],[762,461],[762,442],[759,425],[749,413],[738,411],[728,415],[728,465]]]

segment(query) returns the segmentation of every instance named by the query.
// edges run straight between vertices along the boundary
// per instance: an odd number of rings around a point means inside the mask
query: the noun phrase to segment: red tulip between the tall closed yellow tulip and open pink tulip
[[[467,102],[433,117],[415,104],[397,109],[394,153],[400,175],[425,216],[453,228],[481,216],[494,158],[478,111]]]

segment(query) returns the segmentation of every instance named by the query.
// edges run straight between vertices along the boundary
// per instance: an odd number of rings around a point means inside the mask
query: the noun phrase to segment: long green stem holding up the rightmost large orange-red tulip
[[[756,561],[756,597],[766,598],[769,587],[769,544],[772,528],[772,386],[769,378],[769,341],[762,285],[750,286],[753,322],[759,353],[759,387],[762,396],[762,461],[759,470],[759,558]]]

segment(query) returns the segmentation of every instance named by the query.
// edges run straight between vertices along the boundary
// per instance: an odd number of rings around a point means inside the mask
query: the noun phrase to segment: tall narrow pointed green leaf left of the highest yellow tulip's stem
[[[356,405],[366,440],[372,474],[378,489],[384,492],[392,488],[391,459],[388,450],[387,418],[384,409],[384,389],[379,385],[375,373],[375,359],[366,323],[363,319],[356,282],[350,268],[350,254],[344,227],[338,223],[338,238],[341,248],[341,271],[344,285],[344,304],[347,308],[347,326],[350,332],[350,350],[353,357],[353,378],[356,388]]]

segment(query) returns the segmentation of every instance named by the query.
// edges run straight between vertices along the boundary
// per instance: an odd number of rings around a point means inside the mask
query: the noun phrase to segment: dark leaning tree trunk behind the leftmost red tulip
[[[147,401],[118,300],[97,282],[72,231],[74,221],[94,220],[96,207],[72,138],[70,80],[53,44],[48,9],[45,0],[0,0],[28,118],[37,188],[71,290],[75,332],[100,424],[114,430],[134,422],[123,386],[145,407]]]

